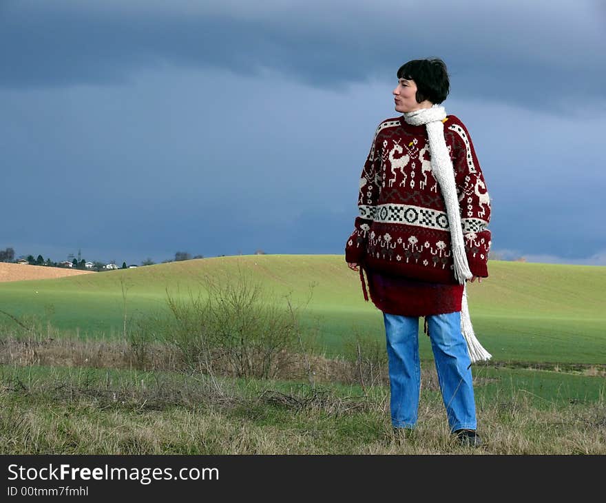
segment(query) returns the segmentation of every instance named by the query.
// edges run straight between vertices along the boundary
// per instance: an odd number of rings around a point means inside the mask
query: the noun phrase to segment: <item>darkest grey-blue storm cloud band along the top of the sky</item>
[[[277,70],[341,88],[386,79],[406,59],[445,59],[458,96],[524,107],[604,99],[598,1],[6,1],[0,85],[119,83],[160,65]],[[568,103],[567,103],[568,102]]]

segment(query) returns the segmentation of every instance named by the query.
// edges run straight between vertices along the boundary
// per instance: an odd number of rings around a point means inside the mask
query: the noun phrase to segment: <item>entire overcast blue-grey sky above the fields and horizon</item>
[[[504,258],[606,265],[606,1],[0,0],[0,249],[342,254],[410,59]]]

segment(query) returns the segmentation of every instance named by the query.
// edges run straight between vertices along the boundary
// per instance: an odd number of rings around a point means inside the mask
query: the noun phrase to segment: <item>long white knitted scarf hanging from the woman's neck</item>
[[[454,184],[454,168],[446,140],[444,139],[443,121],[446,119],[446,110],[441,105],[433,105],[431,108],[421,108],[414,112],[404,113],[404,120],[410,125],[425,125],[429,139],[429,152],[431,154],[431,171],[440,185],[444,202],[446,203],[446,214],[450,225],[450,242],[452,243],[452,258],[454,260],[454,278],[463,285],[463,299],[461,301],[461,332],[467,342],[467,349],[471,362],[490,360],[492,355],[486,351],[479,340],[477,340],[467,304],[466,280],[472,278],[472,273],[467,262],[465,243],[463,241],[463,229],[461,227],[461,215],[459,214],[459,199],[457,198],[457,186]]]

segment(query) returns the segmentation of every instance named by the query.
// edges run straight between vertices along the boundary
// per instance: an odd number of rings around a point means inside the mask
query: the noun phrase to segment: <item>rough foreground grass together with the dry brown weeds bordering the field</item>
[[[205,375],[158,342],[143,356],[126,341],[0,339],[0,452],[470,453],[452,443],[432,365],[408,440],[391,431],[386,367],[362,351],[356,361],[291,353],[275,380],[236,380],[220,361]],[[479,389],[494,381],[479,375]],[[606,453],[603,397],[536,407],[523,390],[478,393],[477,414],[485,444],[474,454]]]

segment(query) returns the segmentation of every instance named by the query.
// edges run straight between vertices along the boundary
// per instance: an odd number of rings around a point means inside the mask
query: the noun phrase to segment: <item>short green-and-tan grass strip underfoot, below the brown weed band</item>
[[[544,400],[477,376],[479,432],[450,441],[439,391],[421,393],[414,440],[397,438],[388,388],[283,380],[210,379],[171,372],[1,368],[0,452],[12,454],[604,454],[606,400]],[[521,374],[520,374],[521,372]],[[536,376],[536,371],[534,371]],[[424,382],[432,382],[424,368]],[[560,376],[578,386],[582,376]],[[595,379],[595,378],[593,378]],[[538,391],[538,390],[535,390]]]

